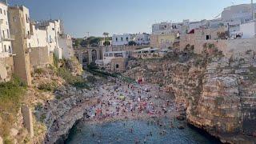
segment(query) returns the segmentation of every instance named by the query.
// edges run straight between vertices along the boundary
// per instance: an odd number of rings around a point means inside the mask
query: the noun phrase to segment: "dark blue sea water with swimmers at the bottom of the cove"
[[[216,139],[201,134],[189,126],[185,125],[184,130],[179,130],[177,128],[178,126],[179,123],[174,122],[174,128],[170,128],[170,122],[168,120],[164,120],[163,126],[149,124],[146,121],[139,120],[108,122],[95,125],[79,122],[70,131],[66,143],[218,143]],[[130,132],[131,128],[133,129],[132,133]],[[160,134],[163,130],[166,131],[166,134]],[[150,132],[152,136],[150,135]]]

